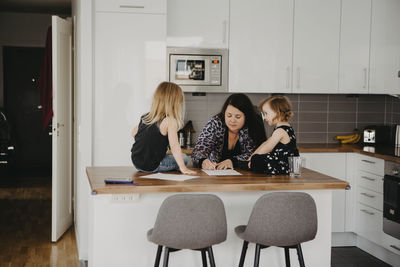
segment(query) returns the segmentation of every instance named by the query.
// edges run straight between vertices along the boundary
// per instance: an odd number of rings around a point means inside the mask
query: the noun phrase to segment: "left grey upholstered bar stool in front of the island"
[[[158,211],[154,228],[147,239],[158,245],[155,267],[160,264],[164,247],[163,266],[168,266],[169,253],[181,249],[201,251],[204,267],[206,253],[215,267],[212,245],[226,240],[226,215],[222,200],[210,194],[178,194],[167,197]]]

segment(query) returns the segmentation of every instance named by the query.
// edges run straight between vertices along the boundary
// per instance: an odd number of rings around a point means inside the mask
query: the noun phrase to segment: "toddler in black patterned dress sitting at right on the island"
[[[254,151],[249,168],[268,174],[287,174],[288,157],[299,155],[296,136],[290,126],[293,116],[290,101],[285,96],[271,96],[261,102],[260,109],[264,120],[274,127],[274,132]]]

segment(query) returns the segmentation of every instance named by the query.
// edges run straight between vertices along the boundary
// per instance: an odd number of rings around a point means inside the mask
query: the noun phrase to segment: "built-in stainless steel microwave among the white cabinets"
[[[228,50],[167,48],[168,81],[184,92],[227,92]]]

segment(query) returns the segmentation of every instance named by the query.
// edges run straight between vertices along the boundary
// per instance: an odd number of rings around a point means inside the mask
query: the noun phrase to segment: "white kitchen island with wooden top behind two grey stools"
[[[263,175],[238,170],[241,176],[208,176],[201,170],[198,178],[178,182],[143,178],[147,174],[133,167],[88,167],[92,190],[89,203],[89,266],[152,266],[157,246],[146,239],[154,226],[158,209],[169,195],[209,192],[224,202],[228,223],[227,240],[214,248],[217,266],[236,266],[242,242],[233,229],[247,224],[256,200],[267,191],[301,191],[310,194],[317,205],[318,232],[303,244],[307,266],[330,266],[332,190],[344,190],[347,182],[302,170],[299,178],[288,175]],[[178,173],[177,173],[178,175]],[[105,178],[132,177],[137,185],[105,185]],[[261,253],[261,263],[284,266],[280,248]],[[291,251],[292,266],[298,266]],[[249,246],[245,266],[252,266],[254,246]],[[183,250],[170,255],[170,266],[201,266],[198,252]]]

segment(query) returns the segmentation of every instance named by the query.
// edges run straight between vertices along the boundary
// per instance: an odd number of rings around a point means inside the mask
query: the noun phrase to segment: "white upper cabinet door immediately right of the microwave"
[[[232,0],[229,91],[291,92],[293,0]]]

